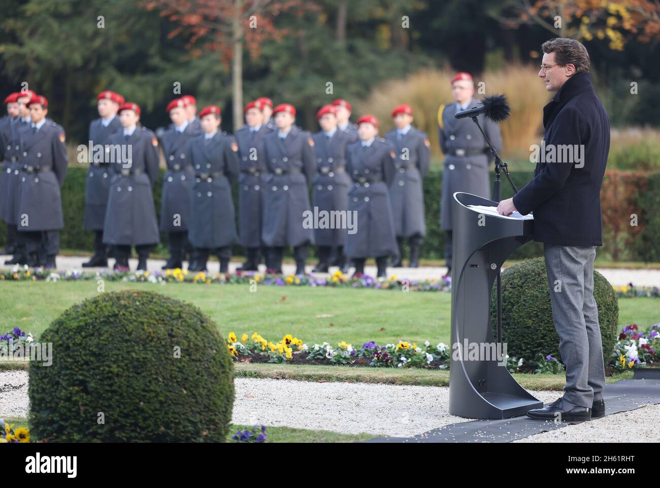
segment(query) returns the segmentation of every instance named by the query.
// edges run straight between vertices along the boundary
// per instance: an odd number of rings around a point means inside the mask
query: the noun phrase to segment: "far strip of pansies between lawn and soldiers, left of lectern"
[[[0,271],[0,281],[120,281],[122,283],[197,283],[197,284],[239,284],[267,285],[277,287],[336,287],[370,288],[404,291],[451,291],[451,277],[443,279],[411,280],[392,275],[389,278],[374,278],[370,275],[350,277],[341,271],[335,271],[330,277],[305,275],[273,275],[252,271],[236,273],[189,273],[187,269],[168,269],[166,271],[80,271],[69,269],[55,273],[50,269],[15,267]]]

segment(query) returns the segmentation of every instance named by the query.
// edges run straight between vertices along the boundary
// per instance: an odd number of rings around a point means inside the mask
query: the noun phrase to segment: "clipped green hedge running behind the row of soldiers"
[[[86,168],[69,168],[67,178],[62,188],[62,205],[64,211],[65,228],[61,233],[61,247],[69,249],[92,250],[93,235],[82,228],[82,214],[84,209],[84,186],[86,179]],[[160,193],[162,190],[161,171],[160,178],[154,188],[154,201],[156,213],[160,213]],[[522,188],[533,178],[531,171],[512,172],[512,180],[517,188]],[[491,188],[494,174],[490,174]],[[234,184],[234,205],[238,209],[238,184]],[[502,198],[513,195],[509,182],[502,175]],[[651,174],[649,177],[649,191],[638,195],[640,208],[647,209],[645,215],[648,221],[647,228],[638,241],[637,259],[640,261],[660,261],[660,248],[655,245],[660,239],[660,213],[651,209],[660,209],[660,173]],[[442,259],[444,257],[444,246],[446,232],[440,230],[440,202],[442,200],[442,171],[429,172],[424,178],[424,205],[426,207],[426,238],[422,247],[422,258]],[[605,203],[603,203],[605,205]],[[236,212],[238,225],[238,211]],[[5,244],[4,224],[0,224],[0,244]],[[167,236],[161,236],[161,246],[166,246]],[[407,253],[407,250],[406,250]],[[234,247],[234,254],[243,254],[240,246]],[[543,245],[531,242],[516,250],[511,258],[524,259],[543,256]]]

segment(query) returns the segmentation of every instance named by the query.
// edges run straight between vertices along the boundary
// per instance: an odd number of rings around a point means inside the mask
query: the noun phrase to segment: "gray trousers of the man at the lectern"
[[[566,366],[564,399],[589,407],[603,399],[605,366],[598,309],[593,298],[596,246],[543,244],[552,319]]]

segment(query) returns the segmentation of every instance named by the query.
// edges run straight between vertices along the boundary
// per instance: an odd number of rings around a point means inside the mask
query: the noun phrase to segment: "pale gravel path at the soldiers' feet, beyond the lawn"
[[[5,266],[3,263],[5,259],[9,259],[9,256],[0,256],[0,267],[10,267]],[[57,257],[57,268],[58,269],[82,269],[82,263],[89,260],[89,258],[83,258],[80,256],[58,256]],[[109,260],[110,265],[114,263],[114,260]],[[164,260],[149,260],[147,261],[147,267],[149,271],[161,271],[160,267],[165,263]],[[131,260],[131,269],[137,267],[137,260]],[[187,265],[187,263],[186,263]],[[231,261],[229,263],[229,271],[233,273],[236,270],[236,267],[240,266],[240,261]],[[306,270],[308,273],[312,271],[314,265],[308,265]],[[96,270],[100,268],[86,268],[88,270]],[[263,273],[265,271],[265,266],[262,264],[259,268]],[[628,283],[633,283],[636,286],[660,286],[660,269],[610,269],[610,268],[596,268],[607,280],[612,283],[612,285],[620,287],[622,285],[628,285]],[[376,276],[376,266],[365,266],[364,270],[367,274]],[[220,263],[218,261],[209,261],[209,271],[211,273],[220,272]],[[296,266],[294,264],[283,264],[282,271],[285,274],[291,274],[296,271]],[[336,267],[331,267],[330,271],[337,271]],[[354,271],[353,268],[350,269],[350,273]],[[408,278],[408,279],[437,279],[444,275],[447,272],[447,268],[443,266],[424,266],[424,267],[388,267],[387,276],[391,277],[396,275],[399,278]],[[325,273],[314,273],[315,275],[325,275]]]

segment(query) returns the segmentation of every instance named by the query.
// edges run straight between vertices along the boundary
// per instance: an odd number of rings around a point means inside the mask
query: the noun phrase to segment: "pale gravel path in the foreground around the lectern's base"
[[[236,378],[232,422],[409,437],[469,419],[449,415],[449,388]],[[531,392],[550,403],[561,392]],[[0,418],[27,417],[28,373],[0,372]],[[660,442],[660,405],[514,442]],[[634,426],[634,427],[633,427]],[[631,430],[632,429],[632,430]]]

